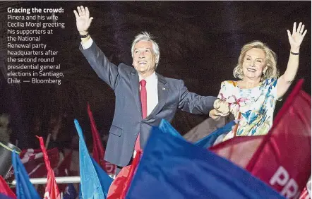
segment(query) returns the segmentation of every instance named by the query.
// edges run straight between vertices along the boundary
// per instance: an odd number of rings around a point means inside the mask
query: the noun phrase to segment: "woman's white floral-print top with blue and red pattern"
[[[224,81],[218,98],[229,103],[235,119],[241,112],[241,120],[236,131],[237,136],[264,135],[273,123],[273,113],[277,100],[277,79],[270,78],[255,88],[241,89],[236,81]],[[224,140],[232,138],[229,132]]]

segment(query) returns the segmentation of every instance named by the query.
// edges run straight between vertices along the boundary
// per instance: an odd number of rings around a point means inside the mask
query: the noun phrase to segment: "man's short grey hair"
[[[160,47],[158,46],[158,44],[153,40],[155,37],[152,37],[152,35],[150,35],[150,33],[148,32],[141,32],[140,34],[136,35],[136,37],[134,38],[133,42],[132,42],[132,46],[131,46],[131,55],[132,58],[134,56],[134,46],[136,45],[136,43],[140,42],[140,41],[149,41],[152,42],[152,51],[155,53],[156,58],[155,58],[155,62],[156,62],[156,66],[155,69],[158,66],[158,63],[160,62]]]

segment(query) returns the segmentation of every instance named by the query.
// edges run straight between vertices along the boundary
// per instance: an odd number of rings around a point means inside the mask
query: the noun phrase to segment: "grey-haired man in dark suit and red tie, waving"
[[[116,95],[105,160],[119,167],[128,165],[135,145],[136,148],[143,148],[151,127],[158,126],[161,119],[172,121],[176,109],[192,114],[208,114],[213,109],[216,97],[203,97],[189,92],[183,80],[155,73],[160,50],[147,32],[137,35],[133,41],[131,52],[134,68],[110,63],[88,34],[93,19],[88,8],[80,6],[77,9],[74,13],[81,37],[80,51],[97,76]]]

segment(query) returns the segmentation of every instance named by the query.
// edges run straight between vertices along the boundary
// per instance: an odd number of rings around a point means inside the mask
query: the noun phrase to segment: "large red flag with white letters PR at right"
[[[300,80],[267,135],[235,137],[210,150],[250,171],[287,198],[298,198],[311,175],[311,96]]]

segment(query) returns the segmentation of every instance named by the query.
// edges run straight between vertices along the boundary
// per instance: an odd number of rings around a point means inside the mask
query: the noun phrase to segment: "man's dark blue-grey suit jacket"
[[[152,126],[158,126],[161,119],[172,121],[176,109],[193,114],[208,114],[216,97],[203,97],[188,92],[183,80],[158,78],[158,104],[145,119],[142,118],[138,72],[132,66],[109,62],[95,42],[83,53],[89,64],[105,83],[115,92],[114,119],[109,130],[109,139],[104,159],[124,167],[133,155],[136,138],[140,132],[140,146],[144,147]]]

